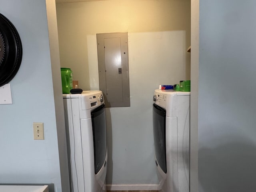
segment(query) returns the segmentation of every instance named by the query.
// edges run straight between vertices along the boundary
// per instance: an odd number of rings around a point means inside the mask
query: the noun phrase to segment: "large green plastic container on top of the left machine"
[[[60,68],[61,70],[61,82],[62,93],[69,94],[73,88],[73,72],[70,68]]]

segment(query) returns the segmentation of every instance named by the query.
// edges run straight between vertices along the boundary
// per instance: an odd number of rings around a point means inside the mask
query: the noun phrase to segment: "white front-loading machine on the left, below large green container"
[[[63,94],[63,101],[71,191],[105,191],[108,151],[103,94]]]

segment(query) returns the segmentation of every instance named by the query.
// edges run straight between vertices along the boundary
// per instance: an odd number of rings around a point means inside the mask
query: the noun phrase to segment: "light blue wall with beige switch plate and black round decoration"
[[[68,182],[66,178],[61,183],[60,164],[62,174],[66,164],[59,159],[58,142],[64,145],[65,139],[63,132],[57,139],[57,126],[62,122],[56,118],[64,119],[56,115],[53,92],[53,84],[61,85],[60,75],[55,78],[58,82],[52,79],[46,2],[0,0],[0,5],[0,12],[18,30],[23,48],[20,70],[10,82],[13,104],[0,106],[0,183],[53,184],[50,191],[64,192]],[[60,68],[58,62],[54,64]],[[61,90],[55,92],[61,96]],[[33,139],[33,122],[44,123],[44,140]],[[66,158],[63,149],[60,146],[60,156]]]

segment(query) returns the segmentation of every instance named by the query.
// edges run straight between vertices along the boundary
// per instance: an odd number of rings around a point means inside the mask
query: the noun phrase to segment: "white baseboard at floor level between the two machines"
[[[158,184],[106,184],[109,191],[159,190]]]

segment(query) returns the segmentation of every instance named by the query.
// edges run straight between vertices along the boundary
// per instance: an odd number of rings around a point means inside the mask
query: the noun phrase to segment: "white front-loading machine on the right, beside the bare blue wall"
[[[189,192],[190,92],[155,90],[154,150],[162,192]]]

